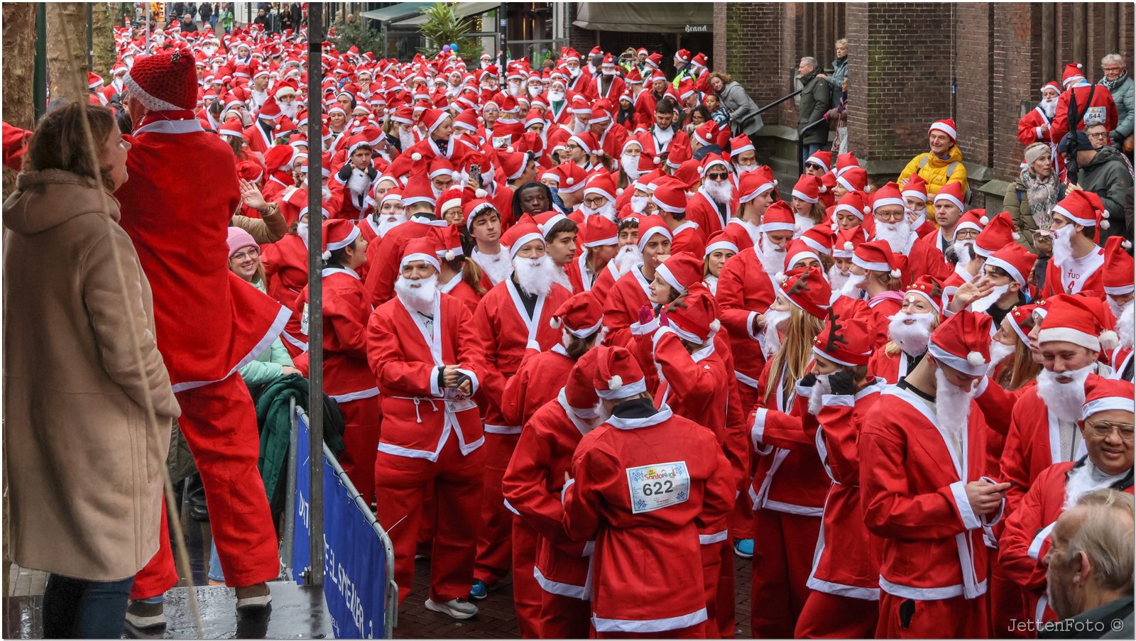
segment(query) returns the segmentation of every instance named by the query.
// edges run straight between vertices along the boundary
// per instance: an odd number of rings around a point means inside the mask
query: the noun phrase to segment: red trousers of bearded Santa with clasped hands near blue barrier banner
[[[377,516],[394,543],[400,603],[410,594],[415,581],[415,550],[427,488],[434,489],[438,515],[431,551],[429,598],[444,603],[469,597],[484,452],[485,448],[477,448],[461,456],[458,439],[451,434],[435,463],[387,452],[375,457]]]

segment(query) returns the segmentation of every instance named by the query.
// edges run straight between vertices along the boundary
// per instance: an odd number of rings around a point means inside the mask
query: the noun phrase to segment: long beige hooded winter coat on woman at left
[[[16,188],[3,203],[8,551],[23,567],[125,578],[158,550],[179,414],[150,284],[118,201],[106,197],[108,217],[93,181],[25,172]],[[147,402],[158,417],[149,430]]]

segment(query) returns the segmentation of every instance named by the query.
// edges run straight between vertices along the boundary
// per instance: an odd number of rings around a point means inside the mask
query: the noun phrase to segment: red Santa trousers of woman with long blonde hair
[[[805,582],[820,535],[820,517],[753,510],[753,589],[750,625],[754,639],[788,639],[809,597]]]

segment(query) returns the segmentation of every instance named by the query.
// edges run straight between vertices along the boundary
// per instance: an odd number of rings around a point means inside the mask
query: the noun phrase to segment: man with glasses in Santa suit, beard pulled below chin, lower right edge
[[[1044,563],[1058,517],[1094,490],[1133,492],[1133,416],[1130,382],[1091,375],[1077,422],[1086,456],[1045,468],[1006,519],[999,560],[1025,590],[1027,611],[1037,623],[1058,619],[1049,607]]]

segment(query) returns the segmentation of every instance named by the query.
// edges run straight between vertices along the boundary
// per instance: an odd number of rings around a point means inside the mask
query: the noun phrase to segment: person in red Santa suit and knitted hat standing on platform
[[[193,115],[193,55],[183,48],[137,60],[126,84],[135,128],[131,180],[116,192],[120,224],[153,288],[158,349],[204,482],[225,577],[236,588],[237,608],[265,607],[272,599],[266,582],[278,575],[279,560],[257,469],[256,411],[236,371],[279,335],[289,310],[227,268],[227,227],[241,192],[232,150]],[[186,169],[198,180],[175,176]],[[135,578],[128,619],[164,625],[161,594],[176,582],[162,538]]]

